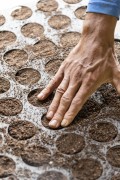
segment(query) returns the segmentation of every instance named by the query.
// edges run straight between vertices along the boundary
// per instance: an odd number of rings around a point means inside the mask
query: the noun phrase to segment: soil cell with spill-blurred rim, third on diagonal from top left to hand
[[[56,53],[56,45],[49,40],[41,40],[33,45],[33,53],[36,57],[54,56]]]

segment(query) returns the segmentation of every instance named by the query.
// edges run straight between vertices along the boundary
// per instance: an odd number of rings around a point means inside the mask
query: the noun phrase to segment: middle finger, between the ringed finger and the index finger
[[[63,96],[60,99],[59,106],[57,107],[57,111],[54,114],[52,120],[49,123],[49,126],[51,128],[58,128],[64,118],[64,115],[68,108],[70,107],[70,104],[72,102],[72,99],[74,98],[76,92],[78,91],[80,85],[71,86],[69,85],[67,91],[63,94]]]

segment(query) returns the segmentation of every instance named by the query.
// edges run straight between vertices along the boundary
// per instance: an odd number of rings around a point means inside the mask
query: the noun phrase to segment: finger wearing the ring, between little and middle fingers
[[[66,76],[66,77],[64,77],[63,81],[61,82],[58,89],[56,90],[55,97],[54,97],[54,99],[53,99],[53,101],[52,101],[52,103],[48,109],[48,113],[47,113],[48,119],[52,119],[52,117],[54,116],[54,114],[55,114],[55,112],[58,109],[58,106],[60,104],[61,97],[63,96],[63,94],[67,90],[68,85],[69,85],[69,77]]]

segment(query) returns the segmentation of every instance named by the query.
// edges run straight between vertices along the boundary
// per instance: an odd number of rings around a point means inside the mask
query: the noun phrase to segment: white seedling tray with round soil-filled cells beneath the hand
[[[38,0],[3,14],[6,21],[0,26],[2,179],[120,179],[120,96],[112,85],[98,88],[66,128],[48,126],[45,115],[54,92],[44,101],[37,99],[81,38],[78,28],[79,23],[83,24],[86,7],[84,0],[82,7],[79,2]],[[120,62],[120,42],[115,42],[115,52]]]

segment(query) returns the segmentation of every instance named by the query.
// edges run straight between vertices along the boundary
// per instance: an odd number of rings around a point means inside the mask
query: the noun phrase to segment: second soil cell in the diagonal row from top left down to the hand
[[[44,28],[38,23],[28,23],[22,26],[21,32],[25,37],[37,38],[43,35]]]

